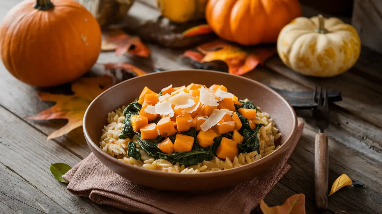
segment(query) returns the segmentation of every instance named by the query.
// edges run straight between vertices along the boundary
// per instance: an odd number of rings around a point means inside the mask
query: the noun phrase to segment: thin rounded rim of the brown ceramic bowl
[[[157,171],[157,170],[150,170],[150,169],[146,169],[144,167],[136,167],[136,166],[133,166],[133,165],[128,164],[128,163],[125,163],[124,161],[120,161],[117,158],[114,158],[114,157],[110,156],[110,154],[105,153],[104,151],[102,151],[102,149],[99,146],[97,146],[95,144],[95,142],[89,136],[89,133],[87,132],[87,126],[86,126],[87,113],[88,113],[89,109],[92,108],[95,100],[99,99],[99,97],[103,96],[105,93],[108,93],[108,91],[112,90],[112,88],[119,87],[122,84],[126,84],[126,82],[129,82],[130,80],[138,79],[138,78],[140,78],[142,76],[156,75],[157,73],[178,72],[178,71],[183,71],[183,72],[194,72],[194,71],[213,72],[213,73],[217,73],[219,75],[225,75],[227,77],[235,76],[235,77],[238,77],[238,78],[243,79],[243,80],[247,80],[247,81],[249,80],[249,81],[253,82],[254,84],[257,84],[257,85],[259,85],[261,87],[264,87],[264,88],[268,89],[270,92],[274,93],[275,95],[277,95],[278,98],[280,98],[282,101],[284,101],[284,103],[286,103],[286,105],[288,106],[288,109],[293,113],[293,129],[292,129],[291,134],[285,140],[285,143],[283,143],[283,145],[281,145],[277,150],[275,150],[274,152],[270,153],[269,155],[267,155],[264,158],[261,158],[261,159],[259,159],[257,161],[254,161],[252,163],[249,163],[249,164],[246,164],[246,165],[243,165],[243,166],[240,166],[240,167],[234,167],[234,168],[231,168],[231,169],[224,169],[224,170],[214,171],[214,172],[195,173],[195,174],[169,173],[169,172],[163,172],[163,171]],[[296,134],[296,130],[297,130],[297,116],[296,116],[296,112],[293,109],[293,107],[290,105],[290,103],[285,100],[285,98],[283,98],[275,90],[273,90],[272,88],[268,87],[267,85],[262,84],[261,82],[257,82],[256,80],[249,79],[249,78],[246,78],[246,77],[243,77],[243,76],[237,76],[237,75],[228,74],[228,73],[225,73],[225,72],[211,71],[211,70],[204,70],[204,69],[177,69],[177,70],[168,70],[168,71],[152,72],[152,73],[145,74],[145,75],[142,75],[142,76],[136,76],[136,77],[133,77],[131,79],[124,80],[124,81],[122,81],[122,82],[120,82],[118,84],[113,85],[110,88],[107,88],[107,90],[105,90],[104,92],[100,93],[89,104],[89,106],[87,107],[87,109],[85,111],[84,117],[83,117],[83,132],[84,132],[84,136],[85,136],[85,139],[87,140],[88,144],[90,144],[93,147],[93,149],[95,151],[97,151],[100,155],[102,155],[104,158],[108,159],[108,161],[110,161],[113,164],[118,165],[119,167],[123,167],[123,168],[127,167],[129,170],[138,170],[138,171],[142,172],[143,174],[151,174],[151,175],[158,175],[158,176],[171,176],[171,177],[178,177],[178,178],[186,178],[186,177],[188,177],[188,178],[189,177],[204,178],[204,177],[211,177],[211,176],[217,176],[217,175],[230,175],[230,174],[235,174],[238,171],[249,170],[249,169],[251,169],[253,167],[253,164],[259,165],[259,164],[262,164],[264,162],[267,162],[268,160],[272,159],[272,157],[276,156],[277,153],[280,153],[283,150],[287,150],[287,149],[290,148],[290,147],[288,147],[288,145],[290,145],[291,141],[293,140],[293,137]],[[93,153],[94,153],[94,150],[93,150]],[[102,161],[101,161],[101,163],[102,163]]]

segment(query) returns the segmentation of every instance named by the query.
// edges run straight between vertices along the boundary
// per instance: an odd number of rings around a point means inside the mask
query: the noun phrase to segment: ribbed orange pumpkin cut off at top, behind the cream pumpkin
[[[298,0],[209,0],[207,23],[219,37],[242,45],[274,43],[301,16]]]

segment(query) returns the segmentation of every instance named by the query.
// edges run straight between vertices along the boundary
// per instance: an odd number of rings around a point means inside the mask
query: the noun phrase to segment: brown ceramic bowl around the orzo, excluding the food
[[[248,98],[259,106],[262,111],[269,113],[276,123],[281,137],[277,145],[281,145],[273,153],[251,164],[217,172],[203,172],[198,174],[176,174],[154,171],[143,167],[136,167],[119,161],[99,148],[102,128],[107,125],[107,113],[122,105],[128,105],[138,97],[142,89],[147,86],[155,92],[170,84],[174,86],[191,83],[213,85],[223,84],[228,91],[239,99]],[[291,145],[297,127],[297,117],[289,103],[271,88],[240,76],[206,71],[182,70],[165,71],[135,77],[114,85],[100,94],[89,105],[84,116],[84,135],[92,152],[113,172],[128,180],[141,185],[178,191],[210,190],[232,186],[247,181],[267,171],[284,156]]]

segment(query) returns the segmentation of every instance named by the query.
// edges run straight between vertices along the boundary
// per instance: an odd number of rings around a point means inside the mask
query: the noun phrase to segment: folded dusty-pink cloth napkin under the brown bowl
[[[298,122],[295,140],[283,159],[269,171],[233,187],[204,192],[156,190],[131,182],[104,166],[93,153],[63,175],[68,190],[77,196],[89,197],[98,204],[107,204],[131,212],[154,214],[250,213],[290,169],[286,161],[303,132]],[[149,170],[149,169],[148,169]],[[219,178],[217,178],[219,179]]]

